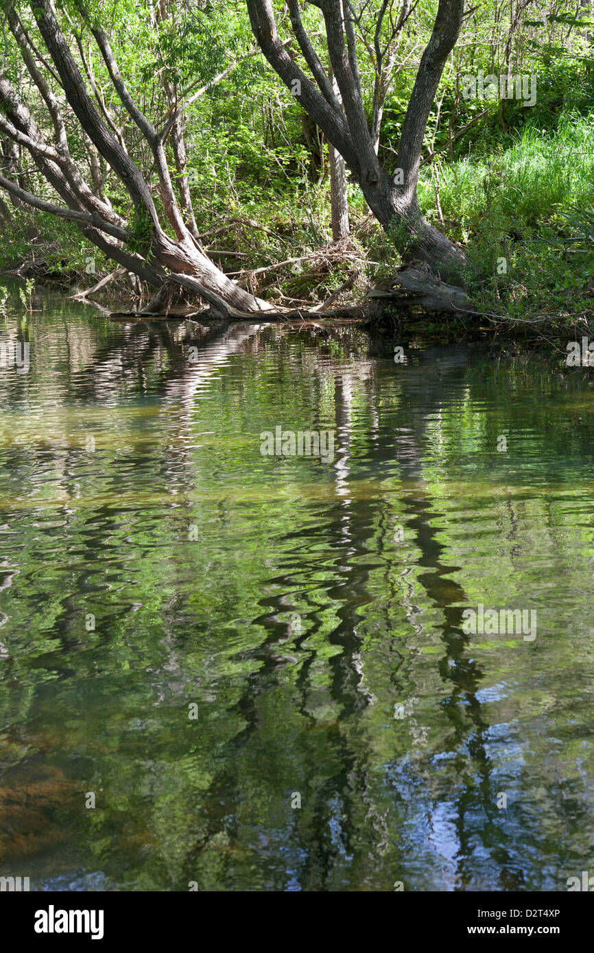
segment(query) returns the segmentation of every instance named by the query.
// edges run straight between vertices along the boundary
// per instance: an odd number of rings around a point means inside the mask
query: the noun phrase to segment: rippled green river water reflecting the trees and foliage
[[[594,377],[36,306],[0,319],[31,360],[0,369],[0,875],[594,870]],[[261,456],[277,426],[334,431],[333,462]],[[536,639],[464,634],[480,603]]]

